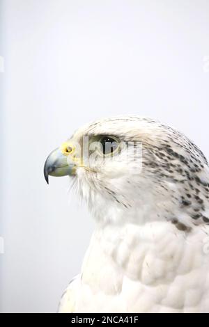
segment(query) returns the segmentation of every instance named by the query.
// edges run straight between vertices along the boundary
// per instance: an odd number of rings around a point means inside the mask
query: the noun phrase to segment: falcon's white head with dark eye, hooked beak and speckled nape
[[[183,134],[131,115],[78,129],[49,154],[44,174],[47,182],[49,175],[72,177],[100,221],[178,217],[188,225],[187,216],[203,218],[203,169],[206,158]]]

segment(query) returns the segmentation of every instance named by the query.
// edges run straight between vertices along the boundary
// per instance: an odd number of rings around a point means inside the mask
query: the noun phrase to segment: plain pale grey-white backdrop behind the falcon
[[[47,186],[45,158],[85,122],[121,113],[158,118],[209,157],[209,2],[0,3],[0,310],[55,312],[93,221],[67,177]]]

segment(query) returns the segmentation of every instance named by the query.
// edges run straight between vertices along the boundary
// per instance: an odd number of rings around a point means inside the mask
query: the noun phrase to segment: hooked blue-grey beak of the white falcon
[[[72,176],[75,175],[75,161],[70,159],[70,155],[66,156],[63,154],[61,149],[58,147],[52,151],[47,157],[44,166],[44,175],[47,184],[49,184],[49,175],[51,176]]]

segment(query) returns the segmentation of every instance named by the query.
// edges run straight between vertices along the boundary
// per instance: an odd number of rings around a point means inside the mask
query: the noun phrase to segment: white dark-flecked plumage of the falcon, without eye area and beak
[[[60,312],[209,312],[209,168],[183,134],[146,118],[106,118],[70,139],[110,136],[124,146],[74,180],[95,220],[82,272]],[[134,146],[134,145],[133,145]],[[141,165],[141,166],[140,166]]]

